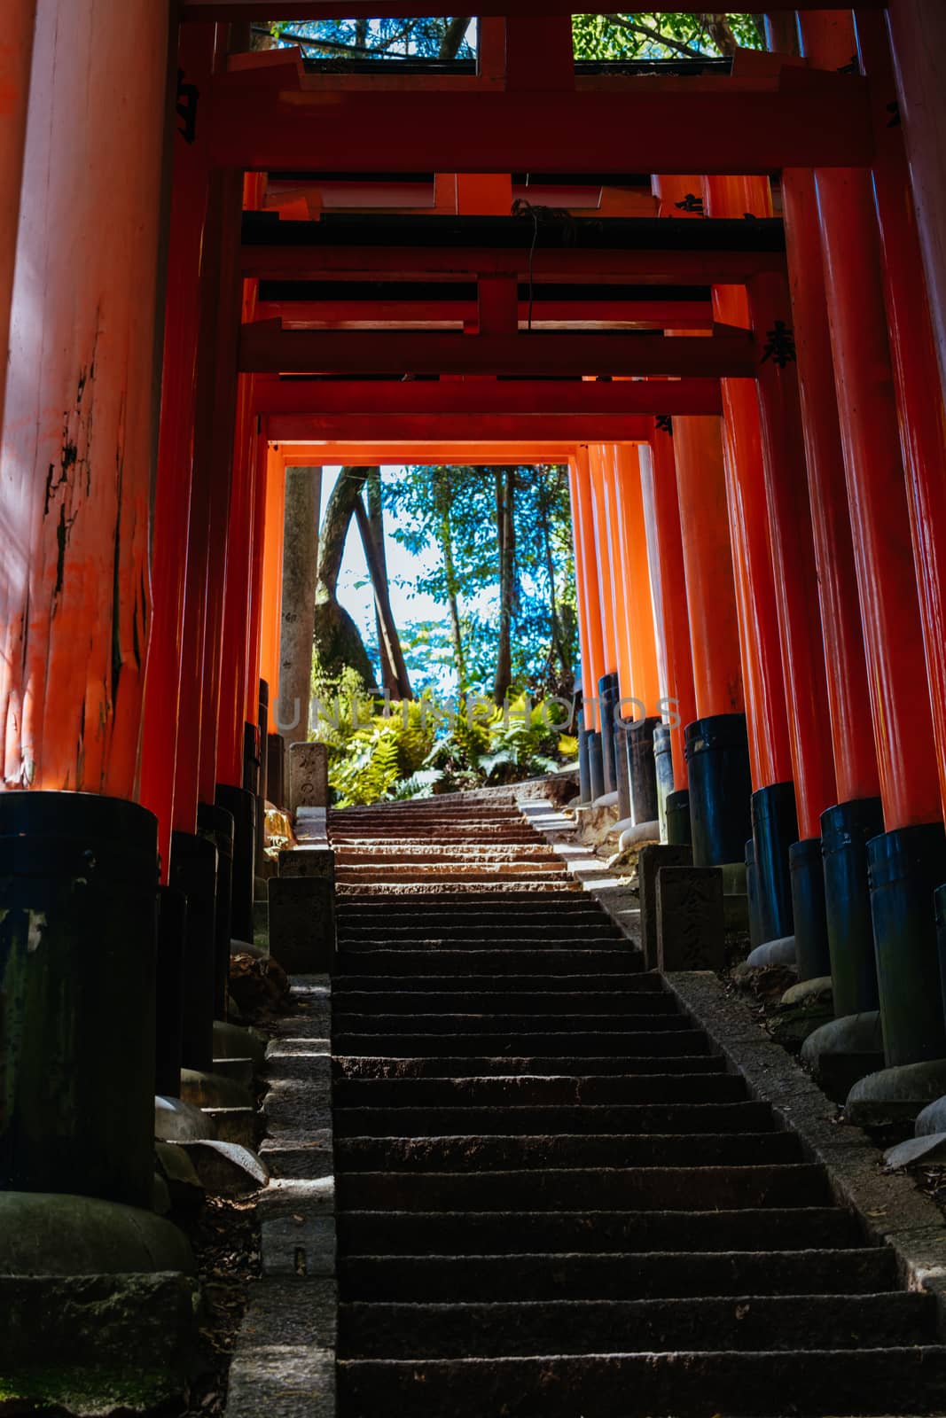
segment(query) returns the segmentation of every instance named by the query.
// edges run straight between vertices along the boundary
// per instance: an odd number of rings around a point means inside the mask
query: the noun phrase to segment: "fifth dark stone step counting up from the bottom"
[[[359,1211],[591,1211],[648,1207],[694,1211],[699,1207],[824,1205],[830,1187],[811,1163],[743,1167],[546,1167],[471,1173],[342,1173],[340,1204]]]

